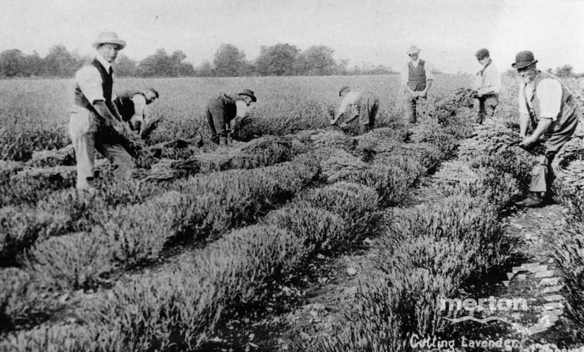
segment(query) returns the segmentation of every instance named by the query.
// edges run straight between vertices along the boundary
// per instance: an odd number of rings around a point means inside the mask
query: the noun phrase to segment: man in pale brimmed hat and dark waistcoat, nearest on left
[[[104,126],[120,133],[126,128],[113,103],[112,92],[112,62],[126,42],[116,33],[103,32],[92,45],[97,55],[75,73],[75,104],[69,120],[69,134],[77,159],[77,189],[93,186],[96,150],[112,163],[115,177],[130,179],[133,169],[133,160],[126,149],[98,134]]]

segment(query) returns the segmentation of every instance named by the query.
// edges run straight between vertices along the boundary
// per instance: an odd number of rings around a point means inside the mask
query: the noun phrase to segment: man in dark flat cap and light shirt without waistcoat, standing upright
[[[482,48],[477,51],[475,56],[482,69],[477,72],[472,89],[475,90],[475,96],[479,102],[477,123],[482,124],[485,117],[492,117],[495,114],[495,108],[499,105],[501,76],[493,64],[488,50]]]

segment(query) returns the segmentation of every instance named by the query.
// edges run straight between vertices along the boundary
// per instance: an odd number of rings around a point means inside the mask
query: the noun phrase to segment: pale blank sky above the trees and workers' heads
[[[412,44],[444,72],[475,72],[481,47],[501,71],[531,50],[540,68],[584,71],[580,0],[2,0],[0,50],[45,55],[55,44],[80,54],[102,30],[127,41],[135,60],[182,50],[194,65],[213,61],[222,43],[249,60],[260,46],[325,45],[337,60],[401,69]]]

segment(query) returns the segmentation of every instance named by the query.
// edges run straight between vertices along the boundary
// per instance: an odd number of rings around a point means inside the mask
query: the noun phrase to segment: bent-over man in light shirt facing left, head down
[[[367,133],[375,126],[375,116],[379,110],[379,98],[370,92],[351,90],[349,86],[343,86],[339,90],[341,103],[335,117],[329,121],[335,125],[341,116],[346,115],[346,119],[339,127],[345,128],[347,125],[359,117],[359,133]],[[349,110],[349,111],[347,111]]]

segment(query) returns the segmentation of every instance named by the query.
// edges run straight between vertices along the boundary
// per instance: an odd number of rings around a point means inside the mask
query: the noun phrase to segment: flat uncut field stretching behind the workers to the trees
[[[440,75],[430,96],[441,97],[460,86],[468,76]],[[402,88],[398,75],[315,76],[252,78],[117,79],[114,91],[152,86],[161,98],[151,106],[153,116],[165,117],[152,135],[155,144],[173,138],[208,138],[204,107],[218,92],[239,92],[250,88],[258,96],[251,116],[253,125],[244,137],[256,134],[287,134],[326,127],[329,114],[339,104],[338,90],[349,84],[369,89],[380,97],[378,126],[402,112]],[[26,159],[31,149],[61,148],[68,144],[68,111],[72,105],[74,81],[2,80],[0,94],[0,159]],[[23,155],[25,154],[25,155]]]

